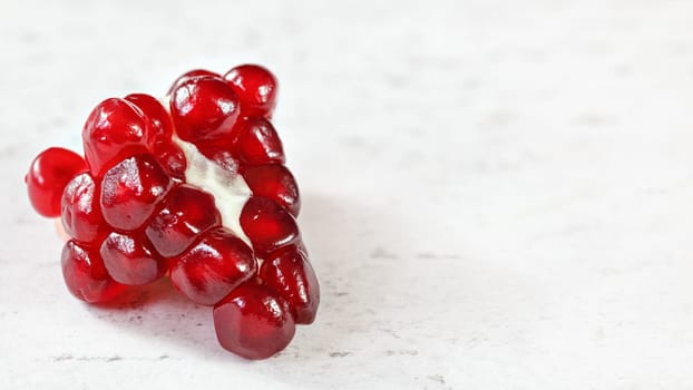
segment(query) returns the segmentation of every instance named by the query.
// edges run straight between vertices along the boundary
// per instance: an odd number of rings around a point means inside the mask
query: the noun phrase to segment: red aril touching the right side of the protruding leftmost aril
[[[104,230],[98,189],[94,177],[84,173],[75,176],[62,193],[62,227],[82,243],[94,242]]]

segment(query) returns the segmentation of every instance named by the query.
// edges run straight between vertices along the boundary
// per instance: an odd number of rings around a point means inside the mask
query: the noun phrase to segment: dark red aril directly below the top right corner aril
[[[234,129],[235,148],[246,164],[284,164],[282,142],[270,120],[248,117]]]

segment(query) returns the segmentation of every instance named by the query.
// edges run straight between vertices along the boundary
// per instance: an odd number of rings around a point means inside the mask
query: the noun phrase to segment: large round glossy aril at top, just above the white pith
[[[176,134],[194,144],[230,138],[238,113],[236,92],[217,78],[192,78],[178,86],[170,99]]]

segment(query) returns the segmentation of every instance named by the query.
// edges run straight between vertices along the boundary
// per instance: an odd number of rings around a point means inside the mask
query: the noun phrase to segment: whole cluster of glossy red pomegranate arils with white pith
[[[299,187],[272,126],[276,79],[243,65],[192,70],[166,99],[110,98],[82,130],[85,158],[49,148],[26,177],[36,211],[60,217],[68,290],[108,302],[168,275],[213,306],[225,349],[283,350],[320,301],[296,217]]]

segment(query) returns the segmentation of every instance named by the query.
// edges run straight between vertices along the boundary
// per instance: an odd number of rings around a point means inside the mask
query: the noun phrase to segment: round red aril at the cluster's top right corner
[[[241,65],[224,75],[224,79],[236,90],[243,116],[272,116],[277,82],[270,70],[258,65]]]

